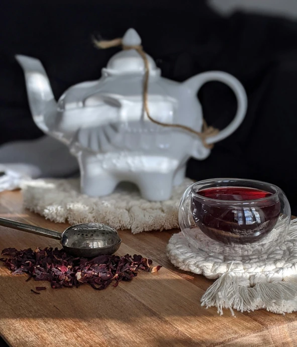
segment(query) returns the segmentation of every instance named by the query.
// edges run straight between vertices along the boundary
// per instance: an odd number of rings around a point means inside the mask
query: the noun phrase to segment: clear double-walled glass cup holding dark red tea
[[[191,247],[225,259],[253,259],[281,244],[290,206],[275,185],[218,178],[192,184],[179,206],[179,225]]]

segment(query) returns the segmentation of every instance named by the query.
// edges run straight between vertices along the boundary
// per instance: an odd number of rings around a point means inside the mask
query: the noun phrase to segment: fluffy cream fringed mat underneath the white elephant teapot
[[[55,222],[100,222],[133,234],[178,227],[178,205],[192,181],[173,187],[170,200],[141,198],[133,185],[122,185],[108,196],[91,198],[79,192],[78,179],[38,179],[22,183],[24,207]]]

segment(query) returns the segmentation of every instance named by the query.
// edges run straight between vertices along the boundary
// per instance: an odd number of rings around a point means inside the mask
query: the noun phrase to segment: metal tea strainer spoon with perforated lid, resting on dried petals
[[[6,218],[0,218],[0,225],[59,240],[65,252],[74,257],[112,255],[122,242],[116,229],[101,223],[71,225],[63,233]]]

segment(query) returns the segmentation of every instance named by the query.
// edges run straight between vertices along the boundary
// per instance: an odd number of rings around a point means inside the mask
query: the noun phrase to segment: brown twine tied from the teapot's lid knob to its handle
[[[139,55],[142,57],[143,62],[144,62],[144,67],[145,67],[145,74],[144,74],[144,80],[143,80],[143,106],[144,106],[144,110],[147,114],[148,119],[152,123],[155,123],[155,124],[162,126],[162,127],[171,127],[171,128],[183,129],[189,133],[192,133],[192,134],[199,136],[205,148],[212,149],[214,147],[213,144],[208,144],[206,142],[206,140],[207,140],[207,138],[209,138],[211,136],[217,135],[219,133],[219,130],[212,127],[212,126],[208,126],[205,119],[203,119],[202,132],[197,132],[197,131],[193,130],[192,128],[189,128],[189,127],[186,127],[186,126],[183,126],[180,124],[163,123],[163,122],[156,121],[151,117],[150,112],[149,112],[149,107],[148,107],[149,63],[148,63],[147,56],[142,49],[142,46],[140,46],[140,45],[135,45],[135,46],[123,45],[123,41],[121,38],[114,39],[111,41],[97,41],[94,39],[93,42],[94,42],[95,46],[97,48],[100,48],[100,49],[107,49],[107,48],[117,47],[117,46],[122,46],[123,50],[135,49],[137,51],[137,53],[139,53]]]

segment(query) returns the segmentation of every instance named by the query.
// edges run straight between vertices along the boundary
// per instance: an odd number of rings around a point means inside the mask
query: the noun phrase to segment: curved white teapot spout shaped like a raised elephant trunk
[[[25,73],[33,120],[44,133],[51,134],[57,114],[57,103],[47,74],[38,59],[25,55],[16,55],[16,59]]]

